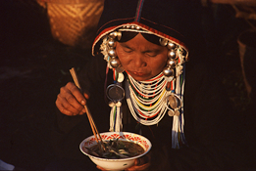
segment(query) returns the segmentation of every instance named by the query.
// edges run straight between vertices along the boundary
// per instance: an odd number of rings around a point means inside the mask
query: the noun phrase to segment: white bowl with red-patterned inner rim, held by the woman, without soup
[[[137,156],[129,157],[129,158],[120,158],[120,159],[101,158],[101,157],[97,157],[97,156],[93,156],[93,155],[89,154],[88,150],[86,149],[86,148],[90,148],[97,144],[94,135],[84,139],[80,143],[80,146],[79,146],[81,152],[84,153],[85,155],[88,155],[89,158],[96,165],[98,165],[106,170],[125,170],[134,164],[134,161],[136,158],[146,154],[152,147],[152,145],[148,139],[146,139],[145,137],[140,136],[138,134],[134,134],[134,133],[106,132],[106,133],[100,133],[100,136],[103,141],[119,139],[121,141],[133,142],[135,144],[140,145],[145,150],[144,153],[137,155]]]

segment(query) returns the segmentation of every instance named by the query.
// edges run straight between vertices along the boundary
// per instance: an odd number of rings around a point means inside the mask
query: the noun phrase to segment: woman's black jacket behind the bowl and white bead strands
[[[192,64],[192,63],[191,63]],[[184,134],[187,147],[171,149],[172,117],[166,116],[158,125],[137,124],[123,101],[124,131],[142,134],[153,144],[155,158],[153,168],[179,170],[224,170],[236,169],[244,164],[244,153],[238,147],[236,117],[222,84],[206,64],[186,64],[184,93]],[[104,94],[106,62],[101,55],[96,56],[79,72],[81,86],[91,94],[88,106],[99,132],[109,130],[108,102]],[[111,71],[108,84],[112,83]],[[78,149],[79,143],[92,135],[86,115],[66,116],[57,112],[53,131],[54,147],[63,157],[84,158]],[[237,139],[236,139],[237,138]],[[155,165],[156,164],[156,165]]]

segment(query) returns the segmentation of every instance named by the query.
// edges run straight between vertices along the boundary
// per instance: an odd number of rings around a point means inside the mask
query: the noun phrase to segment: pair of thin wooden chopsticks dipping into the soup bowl
[[[77,88],[81,91],[81,87],[80,87],[80,84],[79,84],[79,82],[78,82],[77,72],[76,72],[75,68],[72,67],[72,68],[70,69],[70,72],[71,72],[71,74],[72,74],[72,77],[73,77],[73,79],[74,79],[74,82],[75,82]],[[83,106],[83,107],[84,107],[85,110],[86,110],[86,114],[87,114],[87,117],[88,117],[89,122],[90,122],[90,127],[91,127],[92,132],[93,132],[93,134],[94,134],[94,137],[95,137],[95,139],[96,139],[96,141],[97,141],[97,144],[98,144],[103,150],[105,150],[105,147],[104,147],[104,145],[103,145],[103,141],[102,141],[101,136],[100,136],[100,134],[99,134],[99,132],[98,132],[98,130],[97,130],[97,127],[96,127],[96,125],[95,125],[95,123],[94,123],[94,121],[93,121],[93,118],[92,118],[92,116],[91,116],[91,113],[90,113],[90,111],[89,111],[89,108],[88,108],[86,105]],[[100,142],[99,142],[98,140],[100,140]],[[100,148],[100,149],[101,149],[101,148]]]

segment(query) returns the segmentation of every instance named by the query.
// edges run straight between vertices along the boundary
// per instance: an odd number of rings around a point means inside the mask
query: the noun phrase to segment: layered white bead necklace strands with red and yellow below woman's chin
[[[129,74],[126,95],[132,116],[143,125],[157,124],[165,115],[165,89],[167,81],[163,73],[148,81],[136,81]]]

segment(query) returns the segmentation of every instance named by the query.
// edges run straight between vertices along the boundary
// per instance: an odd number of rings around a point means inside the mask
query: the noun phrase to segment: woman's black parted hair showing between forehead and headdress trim
[[[127,42],[128,40],[134,38],[139,32],[134,31],[122,31],[122,37],[119,42]],[[141,33],[142,36],[149,42],[154,43],[156,45],[160,45],[159,37],[153,34]]]

